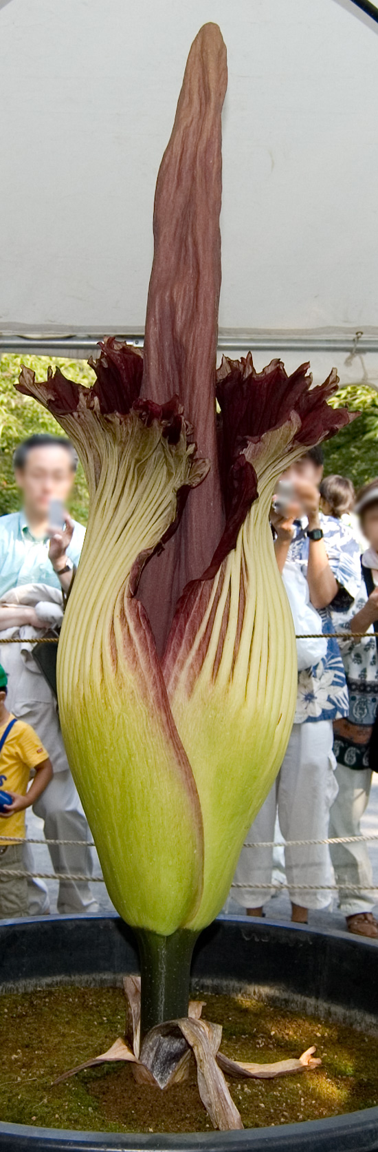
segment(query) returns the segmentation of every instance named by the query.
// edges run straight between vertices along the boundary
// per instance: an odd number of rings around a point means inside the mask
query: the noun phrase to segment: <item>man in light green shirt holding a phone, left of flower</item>
[[[22,495],[22,509],[0,517],[0,644],[20,635],[26,639],[34,635],[30,629],[46,631],[48,622],[36,612],[36,585],[44,585],[37,599],[61,601],[56,592],[70,588],[83,547],[85,529],[64,511],[64,528],[60,532],[49,526],[52,500],[63,508],[72,488],[77,456],[69,440],[63,437],[40,434],[30,437],[18,446],[14,456],[16,484]],[[17,589],[15,597],[14,590]],[[9,602],[7,605],[7,596]],[[14,602],[15,599],[17,602]],[[28,643],[26,643],[28,649]],[[45,824],[48,840],[87,841],[88,826],[69,770],[59,726],[56,702],[36,662],[28,660],[22,645],[3,645],[2,660],[11,670],[9,707],[26,723],[34,727],[47,746],[53,764],[53,779],[46,791],[33,805],[36,816]],[[11,698],[10,698],[11,697]],[[25,846],[25,867],[32,871],[32,855]],[[49,846],[56,872],[80,872],[91,876],[90,848],[78,844]],[[60,881],[57,909],[60,912],[85,912],[97,905],[86,881]],[[29,912],[48,912],[46,886],[29,881]]]

